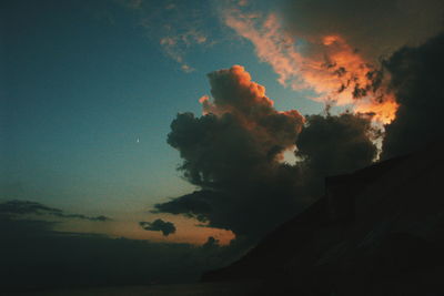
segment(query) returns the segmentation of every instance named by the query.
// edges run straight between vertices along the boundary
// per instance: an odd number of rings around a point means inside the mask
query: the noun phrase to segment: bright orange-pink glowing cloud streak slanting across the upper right
[[[225,23],[250,40],[261,61],[269,63],[279,82],[293,90],[310,89],[312,98],[337,105],[352,105],[380,123],[390,123],[397,103],[387,92],[377,69],[339,34],[313,37],[297,44],[276,17],[226,10]],[[301,40],[302,41],[302,40]]]

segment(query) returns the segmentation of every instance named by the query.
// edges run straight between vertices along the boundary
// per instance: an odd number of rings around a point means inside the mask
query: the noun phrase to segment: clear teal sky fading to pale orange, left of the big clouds
[[[176,172],[179,153],[165,140],[178,112],[202,112],[206,73],[242,64],[278,110],[322,111],[307,93],[279,84],[219,10],[215,1],[3,2],[1,201],[117,221],[70,229],[160,239],[132,222],[154,218],[147,212],[154,203],[194,190]],[[188,42],[162,43],[186,32]],[[205,40],[192,39],[196,32]],[[193,222],[178,221],[175,239],[186,241]]]

